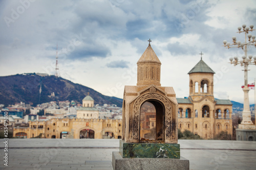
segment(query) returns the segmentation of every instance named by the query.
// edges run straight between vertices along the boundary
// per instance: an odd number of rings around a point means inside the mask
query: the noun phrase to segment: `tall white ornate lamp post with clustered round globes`
[[[241,41],[237,41],[237,38],[235,36],[232,37],[232,44],[230,44],[229,42],[227,42],[226,40],[223,41],[224,43],[224,47],[225,48],[233,48],[233,47],[237,47],[237,48],[242,48],[242,50],[244,51],[244,56],[242,57],[242,60],[239,61],[238,57],[234,57],[230,58],[230,64],[233,64],[234,66],[240,64],[241,66],[244,67],[244,109],[243,109],[243,120],[241,122],[241,125],[239,125],[239,128],[241,129],[249,129],[246,128],[247,125],[253,125],[253,123],[251,122],[251,112],[250,112],[250,105],[249,105],[249,88],[248,88],[248,66],[249,65],[256,65],[256,57],[253,57],[254,61],[252,60],[252,55],[249,55],[247,58],[247,46],[248,45],[252,45],[254,47],[256,47],[256,40],[255,40],[255,36],[249,34],[249,32],[254,31],[253,30],[253,25],[250,26],[250,28],[246,27],[246,25],[242,26],[243,29],[241,27],[238,27],[238,31],[237,33],[245,33],[245,42],[241,43]],[[248,37],[248,42],[247,42],[247,37]]]

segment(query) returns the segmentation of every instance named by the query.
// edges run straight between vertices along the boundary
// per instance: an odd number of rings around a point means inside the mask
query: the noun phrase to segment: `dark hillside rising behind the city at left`
[[[95,104],[122,106],[122,99],[105,96],[92,88],[73,83],[61,77],[42,74],[23,74],[0,77],[0,104],[24,102],[31,106],[51,101],[75,101],[80,103],[87,93]]]

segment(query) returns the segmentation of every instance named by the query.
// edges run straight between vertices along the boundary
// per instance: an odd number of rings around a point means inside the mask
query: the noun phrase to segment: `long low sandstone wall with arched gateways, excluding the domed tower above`
[[[80,138],[82,130],[92,130],[92,138],[105,138],[105,133],[113,133],[115,139],[122,136],[121,119],[84,119],[84,118],[53,118],[47,121],[30,121],[27,128],[13,128],[13,136],[26,133],[26,138],[42,134],[46,138],[62,138],[61,132],[68,132],[67,138]],[[91,138],[91,137],[90,137]]]

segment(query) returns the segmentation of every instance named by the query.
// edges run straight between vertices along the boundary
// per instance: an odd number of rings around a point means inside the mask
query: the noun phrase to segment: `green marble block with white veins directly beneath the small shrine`
[[[177,143],[125,143],[120,140],[123,158],[174,158],[180,159],[180,144]]]

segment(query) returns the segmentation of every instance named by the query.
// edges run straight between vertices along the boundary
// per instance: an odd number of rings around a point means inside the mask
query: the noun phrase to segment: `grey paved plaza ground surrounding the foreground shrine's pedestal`
[[[179,140],[190,169],[256,169],[255,141]],[[0,169],[113,169],[118,139],[9,139],[8,167],[0,139]]]

